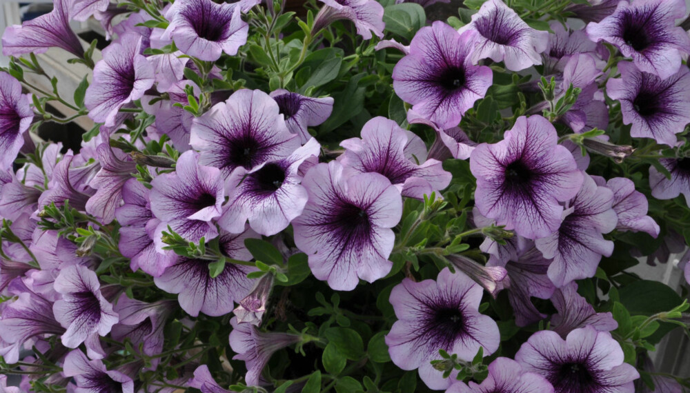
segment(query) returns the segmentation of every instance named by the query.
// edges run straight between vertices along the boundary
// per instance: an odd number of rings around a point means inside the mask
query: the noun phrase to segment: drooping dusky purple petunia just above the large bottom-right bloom
[[[573,330],[588,325],[599,332],[611,332],[618,328],[618,322],[613,319],[613,314],[595,312],[592,305],[578,294],[577,283],[569,283],[555,290],[551,301],[558,310],[558,314],[551,317],[551,327],[563,338]]]

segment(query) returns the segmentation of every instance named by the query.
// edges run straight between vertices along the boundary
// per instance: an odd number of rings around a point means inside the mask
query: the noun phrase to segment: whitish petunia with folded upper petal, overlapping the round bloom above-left
[[[237,168],[226,179],[229,200],[218,225],[228,232],[244,231],[244,223],[265,236],[287,228],[307,202],[306,189],[299,183],[299,167],[308,159],[317,159],[321,145],[310,139],[288,157],[269,161],[253,170]]]

